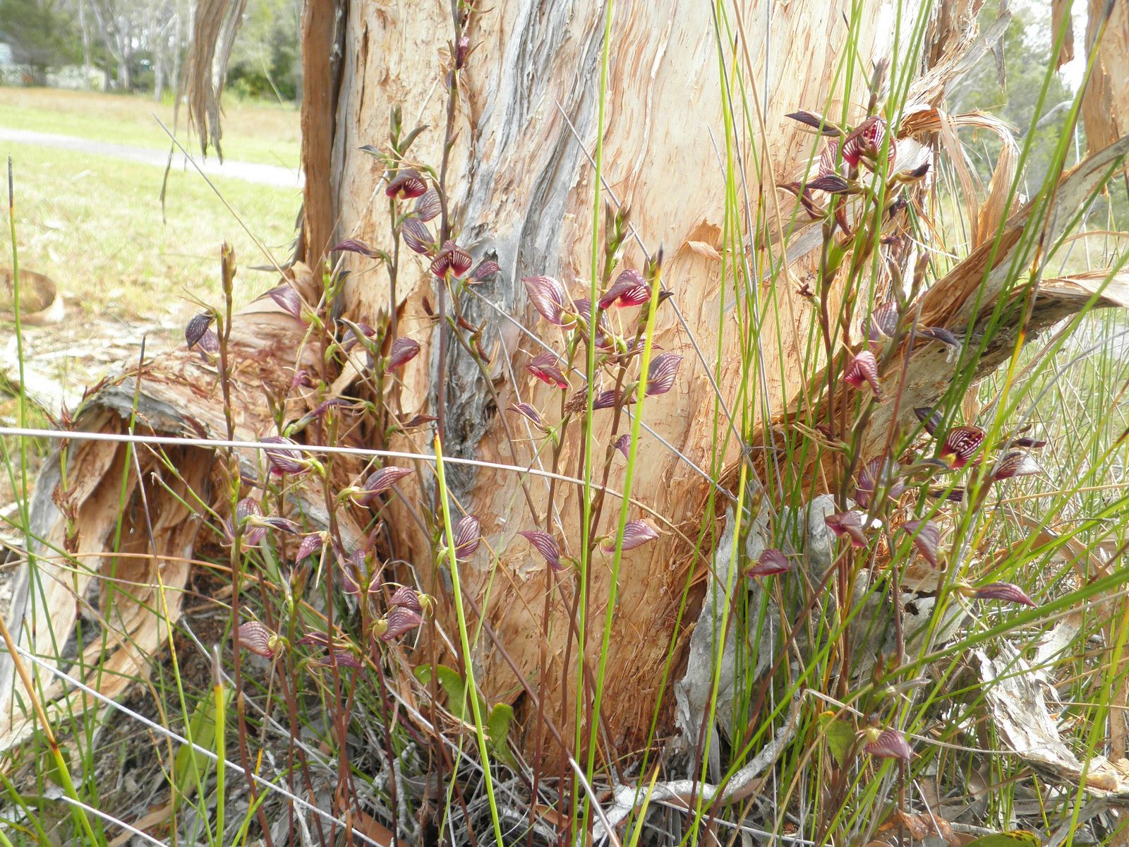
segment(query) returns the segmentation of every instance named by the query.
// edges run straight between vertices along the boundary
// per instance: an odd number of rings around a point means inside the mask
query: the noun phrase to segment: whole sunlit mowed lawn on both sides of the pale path
[[[3,126],[167,149],[159,128],[145,129],[142,110],[156,104],[141,97],[0,89],[0,102]],[[228,108],[225,139],[231,152],[226,158],[242,150],[248,160],[294,166],[297,128],[292,111]],[[271,257],[243,225],[274,260],[290,253],[301,201],[297,185],[212,177],[221,200],[194,171],[174,169],[161,209],[160,167],[12,142],[0,143],[0,152],[12,158],[20,265],[51,277],[69,305],[91,317],[167,325],[199,311],[191,298],[218,305],[225,241],[245,269],[237,277],[238,300],[253,299],[274,285],[277,274],[246,269],[271,264]],[[10,250],[2,254],[0,262],[10,264]],[[10,331],[0,315],[0,335]]]

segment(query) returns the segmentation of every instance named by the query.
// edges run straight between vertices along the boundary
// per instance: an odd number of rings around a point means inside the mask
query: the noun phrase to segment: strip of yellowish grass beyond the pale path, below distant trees
[[[0,87],[0,126],[167,150],[168,136],[154,115],[173,128],[173,104],[145,95]],[[199,154],[200,142],[187,129],[187,111],[182,107],[177,137],[189,151]],[[228,97],[222,129],[226,159],[298,167],[301,132],[294,107]]]

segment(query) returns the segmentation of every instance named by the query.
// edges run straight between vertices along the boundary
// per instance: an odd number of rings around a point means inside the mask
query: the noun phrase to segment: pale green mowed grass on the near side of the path
[[[163,172],[105,156],[9,145],[16,224],[25,270],[45,273],[93,317],[182,321],[199,311],[189,295],[219,296],[219,247],[228,241],[240,268],[269,259],[195,172],[169,174],[161,219]],[[216,187],[278,261],[290,252],[297,189],[215,178]],[[243,270],[236,299],[253,299],[273,273]]]

